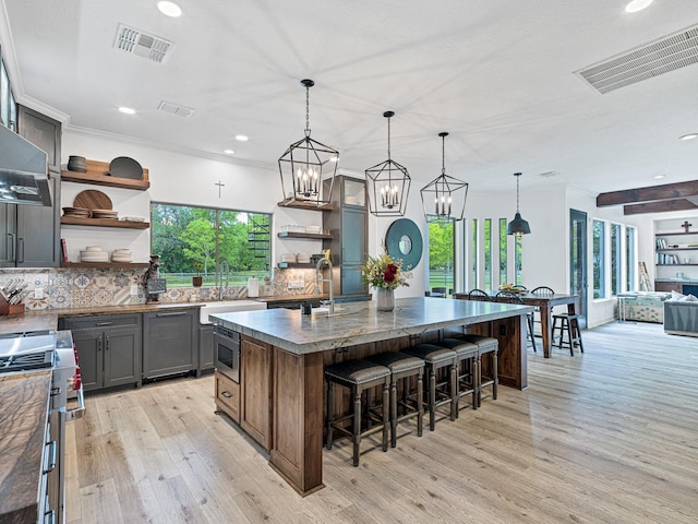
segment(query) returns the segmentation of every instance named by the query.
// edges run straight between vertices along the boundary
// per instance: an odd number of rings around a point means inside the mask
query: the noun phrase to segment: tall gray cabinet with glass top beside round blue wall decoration
[[[323,224],[333,238],[325,240],[323,248],[332,250],[332,262],[336,266],[334,291],[337,295],[365,294],[368,285],[361,283],[361,265],[369,251],[365,181],[337,177],[332,204],[332,211],[323,212]]]

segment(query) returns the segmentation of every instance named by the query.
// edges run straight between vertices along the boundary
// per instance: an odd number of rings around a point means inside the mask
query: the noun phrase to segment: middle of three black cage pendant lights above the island
[[[390,158],[390,118],[394,111],[383,114],[388,119],[388,159],[365,170],[369,209],[375,216],[404,216],[410,191],[410,175],[405,166]]]

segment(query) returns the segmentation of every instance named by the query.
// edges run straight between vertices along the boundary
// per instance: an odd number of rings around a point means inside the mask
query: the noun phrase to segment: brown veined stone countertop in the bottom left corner
[[[0,377],[0,522],[38,520],[50,371]]]

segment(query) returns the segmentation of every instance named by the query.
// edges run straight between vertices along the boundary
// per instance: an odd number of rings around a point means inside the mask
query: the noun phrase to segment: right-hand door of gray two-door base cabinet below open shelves
[[[106,330],[104,386],[141,385],[141,327]]]

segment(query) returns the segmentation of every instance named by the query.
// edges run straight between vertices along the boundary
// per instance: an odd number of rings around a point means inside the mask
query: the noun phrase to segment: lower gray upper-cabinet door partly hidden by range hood
[[[48,181],[52,206],[17,205],[17,267],[58,267],[60,265],[60,177]]]

